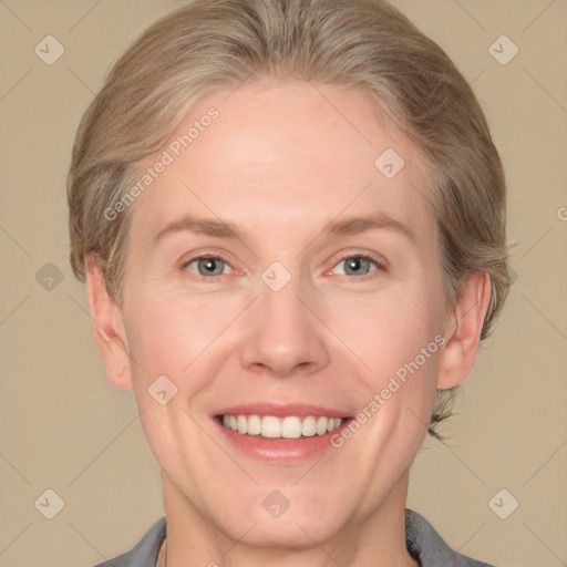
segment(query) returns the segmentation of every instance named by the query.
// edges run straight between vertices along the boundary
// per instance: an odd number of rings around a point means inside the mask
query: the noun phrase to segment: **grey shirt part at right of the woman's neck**
[[[405,511],[405,545],[421,567],[494,567],[451,549],[435,528],[412,509]]]

